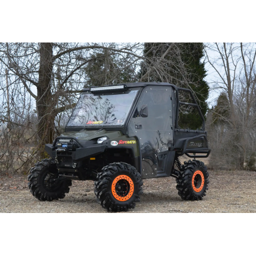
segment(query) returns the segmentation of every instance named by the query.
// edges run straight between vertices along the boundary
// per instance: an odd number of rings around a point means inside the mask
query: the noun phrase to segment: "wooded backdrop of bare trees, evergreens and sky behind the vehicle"
[[[191,89],[208,167],[256,170],[255,56],[254,43],[0,43],[0,174],[27,174],[48,157],[44,145],[64,131],[82,88],[136,81]],[[183,106],[179,125],[200,129],[201,119]]]

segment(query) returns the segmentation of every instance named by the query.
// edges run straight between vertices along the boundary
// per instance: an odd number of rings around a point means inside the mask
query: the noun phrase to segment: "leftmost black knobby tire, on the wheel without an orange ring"
[[[43,159],[30,169],[30,174],[28,175],[30,192],[40,201],[62,199],[66,193],[69,193],[69,186],[72,185],[71,180],[65,180],[55,186],[53,184],[51,187],[47,187],[45,185],[45,178],[49,173],[57,176],[58,172],[55,162],[52,159]]]

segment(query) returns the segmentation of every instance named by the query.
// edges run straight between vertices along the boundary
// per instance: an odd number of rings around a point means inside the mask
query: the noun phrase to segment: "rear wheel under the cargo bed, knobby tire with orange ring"
[[[209,175],[203,162],[188,160],[176,179],[179,196],[184,200],[202,200],[208,190]]]

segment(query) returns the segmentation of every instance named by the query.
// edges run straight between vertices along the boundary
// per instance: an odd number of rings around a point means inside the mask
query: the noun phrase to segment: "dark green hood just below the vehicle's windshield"
[[[114,139],[114,138],[121,137],[123,135],[120,131],[106,131],[105,129],[100,129],[100,130],[83,129],[79,132],[63,133],[60,136],[75,137],[78,140],[92,140],[92,139],[100,138],[103,136],[107,136],[110,139]]]

